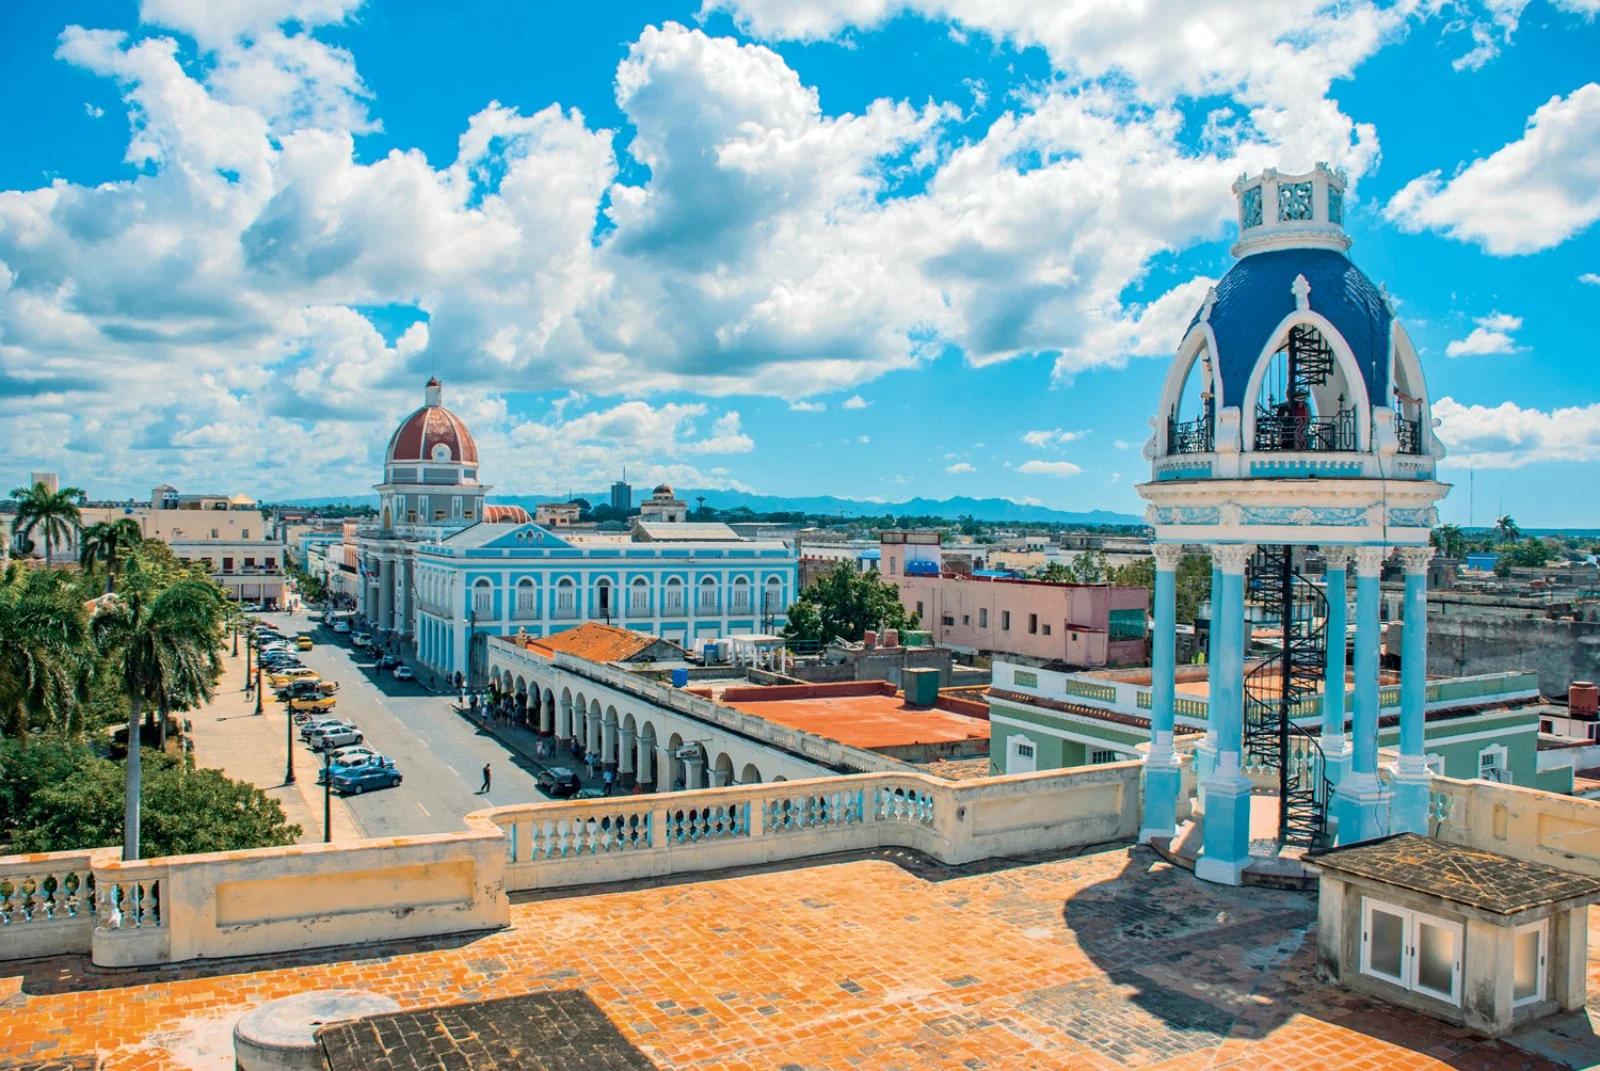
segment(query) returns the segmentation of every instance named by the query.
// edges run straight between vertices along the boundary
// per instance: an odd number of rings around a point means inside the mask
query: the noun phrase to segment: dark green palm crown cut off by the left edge
[[[37,720],[74,724],[86,640],[66,578],[13,562],[0,581],[0,733],[27,740]]]

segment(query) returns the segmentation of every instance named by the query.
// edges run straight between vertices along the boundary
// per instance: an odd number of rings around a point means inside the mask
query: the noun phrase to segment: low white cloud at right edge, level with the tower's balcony
[[[1517,469],[1538,461],[1600,461],[1600,403],[1544,411],[1515,402],[1461,405],[1442,397],[1434,416],[1451,464]]]

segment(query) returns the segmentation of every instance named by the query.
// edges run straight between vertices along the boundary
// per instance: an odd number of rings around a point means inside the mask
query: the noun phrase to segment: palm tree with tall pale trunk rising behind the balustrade
[[[128,786],[123,800],[123,860],[139,858],[139,722],[146,704],[162,712],[208,701],[221,671],[222,594],[205,580],[179,580],[152,591],[139,560],[128,562],[122,602],[96,618],[120,652],[128,695]],[[104,623],[104,624],[101,624]]]

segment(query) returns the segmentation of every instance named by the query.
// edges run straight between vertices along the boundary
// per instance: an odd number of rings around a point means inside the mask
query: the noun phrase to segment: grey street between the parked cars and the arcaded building
[[[379,672],[374,660],[334,636],[310,615],[264,613],[280,629],[310,632],[317,645],[301,652],[301,661],[339,682],[334,714],[355,722],[366,744],[400,767],[400,786],[349,796],[350,813],[370,837],[421,832],[453,832],[474,810],[501,804],[544,800],[533,768],[493,736],[474,728],[454,709],[454,701],[430,695],[419,684]],[[296,757],[301,776],[315,776],[309,752]],[[306,765],[299,765],[306,762]],[[493,765],[493,788],[480,796],[483,764]]]

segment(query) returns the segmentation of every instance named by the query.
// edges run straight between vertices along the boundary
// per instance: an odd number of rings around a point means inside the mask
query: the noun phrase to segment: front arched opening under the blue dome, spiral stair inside
[[[1360,450],[1344,367],[1317,327],[1291,325],[1256,376],[1253,450]]]

